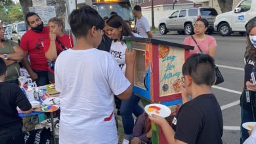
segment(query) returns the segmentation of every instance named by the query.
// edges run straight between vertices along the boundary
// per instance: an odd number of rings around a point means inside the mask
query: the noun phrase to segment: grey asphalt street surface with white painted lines
[[[224,82],[213,86],[212,92],[215,94],[223,112],[223,143],[240,143],[240,122],[241,112],[239,99],[244,84],[244,52],[246,38],[238,33],[230,37],[221,37],[213,34],[217,41],[217,53],[215,62],[224,77]],[[182,43],[186,35],[177,33],[167,33],[160,35],[154,33],[154,39]]]

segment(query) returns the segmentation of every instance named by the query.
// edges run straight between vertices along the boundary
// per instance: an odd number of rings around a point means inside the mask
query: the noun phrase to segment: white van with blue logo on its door
[[[230,35],[234,31],[244,35],[245,24],[255,16],[256,0],[242,0],[234,10],[224,12],[216,17],[214,29],[223,37]]]

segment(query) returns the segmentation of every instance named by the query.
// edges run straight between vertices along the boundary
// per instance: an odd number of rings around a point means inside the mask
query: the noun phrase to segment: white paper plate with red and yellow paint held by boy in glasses
[[[154,115],[158,115],[163,118],[171,115],[171,109],[169,109],[169,107],[167,107],[165,105],[158,104],[158,103],[146,105],[146,107],[144,109],[148,115],[154,114]]]

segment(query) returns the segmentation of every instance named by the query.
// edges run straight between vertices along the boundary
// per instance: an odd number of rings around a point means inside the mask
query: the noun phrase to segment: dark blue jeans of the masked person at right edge
[[[255,122],[256,121],[256,92],[249,92],[250,102],[246,101],[245,90],[240,97],[241,106],[241,137],[240,143],[244,143],[245,139],[249,137],[248,130],[242,127],[244,122]]]

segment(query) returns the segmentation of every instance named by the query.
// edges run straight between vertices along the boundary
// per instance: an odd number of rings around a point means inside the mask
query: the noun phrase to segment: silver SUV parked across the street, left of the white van
[[[179,34],[185,33],[192,35],[193,25],[198,18],[205,18],[209,22],[208,33],[212,33],[213,23],[218,12],[213,8],[189,8],[175,10],[169,18],[160,20],[159,29],[161,35],[165,35],[169,31],[178,31]]]

